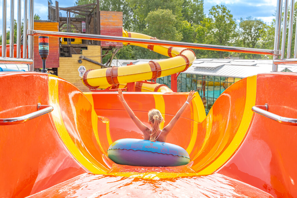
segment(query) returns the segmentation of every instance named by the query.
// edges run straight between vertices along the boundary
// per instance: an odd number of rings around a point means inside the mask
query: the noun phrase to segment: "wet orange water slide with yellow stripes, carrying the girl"
[[[116,92],[83,94],[53,75],[1,72],[0,118],[35,112],[37,103],[53,111],[0,126],[0,196],[297,197],[296,126],[251,110],[267,103],[269,112],[296,118],[296,82],[295,73],[244,78],[219,96],[207,116],[197,94],[167,138],[186,149],[191,162],[131,167],[106,156],[115,140],[143,138]],[[187,94],[124,97],[146,125],[148,110],[159,109],[163,127]]]

